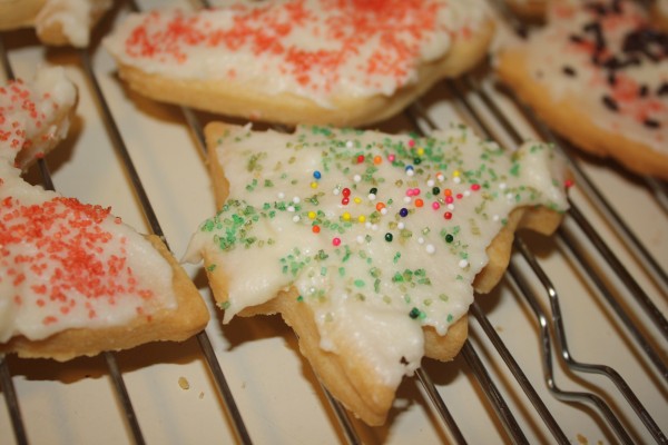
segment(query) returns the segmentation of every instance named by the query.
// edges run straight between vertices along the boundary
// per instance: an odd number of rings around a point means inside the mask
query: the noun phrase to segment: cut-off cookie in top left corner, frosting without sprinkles
[[[0,0],[0,30],[35,28],[46,44],[87,47],[112,0]]]

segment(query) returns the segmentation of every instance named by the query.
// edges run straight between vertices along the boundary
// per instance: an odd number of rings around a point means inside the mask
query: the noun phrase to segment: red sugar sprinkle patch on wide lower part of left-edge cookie
[[[122,295],[149,299],[153,290],[137,285],[122,251],[108,259],[99,255],[114,239],[100,226],[109,216],[109,208],[73,198],[58,197],[24,206],[17,198],[7,197],[0,201],[0,266],[8,270],[13,286],[26,281],[28,271],[38,277],[49,271],[48,283],[31,286],[35,294],[43,296],[36,305],[56,305],[63,316],[85,303],[72,297],[76,293],[89,299],[106,299],[108,304]],[[38,254],[11,256],[10,248],[19,245],[32,245]],[[95,316],[91,310],[89,314]],[[58,322],[55,316],[43,318],[45,325]]]

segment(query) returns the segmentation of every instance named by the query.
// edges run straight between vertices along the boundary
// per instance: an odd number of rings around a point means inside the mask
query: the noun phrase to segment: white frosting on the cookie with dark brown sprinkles
[[[576,44],[571,36],[583,36],[595,44],[593,32],[583,31],[597,16],[583,7],[586,2],[556,2],[549,10],[549,26],[532,33],[525,44],[529,49],[530,72],[549,86],[547,92],[556,99],[568,95],[576,98],[577,108],[589,116],[600,128],[623,135],[668,155],[668,95],[658,96],[661,83],[668,82],[668,58],[651,62],[645,56],[640,65],[617,70],[616,87],[608,82],[608,71],[591,62],[592,51]],[[607,3],[606,3],[607,4]],[[623,14],[608,14],[599,20],[605,32],[607,53],[625,60],[621,50],[629,31],[647,21],[646,13],[630,1],[620,2]],[[658,48],[654,48],[658,50]],[[574,70],[567,76],[566,67]],[[640,86],[647,86],[649,95],[638,97]],[[619,110],[613,112],[602,101],[603,96],[613,98]],[[645,119],[656,121],[659,128],[649,128]]]

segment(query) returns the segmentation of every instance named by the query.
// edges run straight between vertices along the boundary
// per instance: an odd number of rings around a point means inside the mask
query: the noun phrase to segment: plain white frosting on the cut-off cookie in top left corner
[[[111,0],[49,0],[37,14],[36,28],[39,31],[59,23],[72,46],[86,47],[94,20],[111,4]]]

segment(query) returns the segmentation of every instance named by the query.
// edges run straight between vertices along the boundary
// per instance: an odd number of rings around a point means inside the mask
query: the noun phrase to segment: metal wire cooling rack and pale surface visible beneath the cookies
[[[118,2],[96,43],[128,11],[166,3]],[[500,32],[513,32],[493,6]],[[1,39],[4,80],[61,65],[79,88],[70,137],[26,178],[111,206],[181,255],[215,212],[202,128],[223,118],[126,89],[98,44],[45,48],[30,30]],[[279,317],[223,326],[202,269],[185,265],[212,312],[190,340],[63,364],[0,356],[0,443],[666,443],[667,185],[573,151],[489,69],[441,82],[376,128],[451,121],[510,149],[554,142],[577,186],[553,237],[518,235],[504,279],[471,307],[461,354],[405,378],[385,426],[364,425],[328,395]]]

